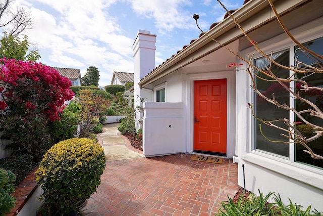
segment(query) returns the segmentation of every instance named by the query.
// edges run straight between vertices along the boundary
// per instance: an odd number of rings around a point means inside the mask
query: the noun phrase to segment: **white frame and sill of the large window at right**
[[[323,18],[319,18],[317,20],[312,21],[311,23],[307,23],[306,25],[299,26],[290,32],[298,39],[299,42],[304,43],[310,40],[314,40],[320,37],[323,37],[323,33],[321,31],[321,26],[319,23]],[[276,37],[273,37],[271,39],[268,39],[264,42],[260,42],[258,45],[261,50],[264,53],[271,53],[273,51],[274,53],[280,52],[286,49],[289,49],[290,51],[290,62],[294,64],[294,47],[296,44],[292,42],[289,38],[287,38],[286,34],[283,33],[281,35],[278,35]],[[254,53],[254,48],[250,47],[243,51],[241,51],[240,55],[247,56],[248,54],[252,55]],[[256,54],[253,56],[253,59],[257,59],[261,57],[260,54]],[[240,62],[238,62],[240,63]],[[241,62],[243,63],[243,62]],[[291,86],[294,84],[291,83]],[[250,94],[248,94],[252,99],[253,91],[250,90]],[[251,100],[250,100],[251,101]],[[294,106],[294,99],[290,99],[290,105]],[[322,188],[322,181],[323,181],[323,169],[312,167],[310,165],[298,163],[294,161],[294,144],[290,144],[290,157],[289,159],[281,158],[276,155],[271,155],[268,153],[263,153],[260,151],[256,151],[253,148],[254,143],[252,140],[254,139],[253,136],[253,116],[249,116],[249,128],[251,133],[249,134],[250,137],[250,143],[247,147],[247,151],[243,153],[241,158],[245,161],[248,161],[253,164],[257,164],[258,166],[264,167],[266,169],[273,170],[275,172],[278,172],[279,174],[282,174],[284,176],[288,176],[292,179],[295,179],[297,181],[310,184],[314,187]],[[294,121],[294,114],[290,112],[290,119]],[[309,183],[310,179],[310,183]]]

